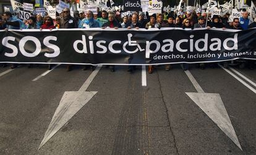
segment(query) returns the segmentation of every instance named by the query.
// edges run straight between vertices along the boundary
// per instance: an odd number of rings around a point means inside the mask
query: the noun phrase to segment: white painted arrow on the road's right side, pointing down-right
[[[229,119],[228,112],[218,93],[205,93],[192,76],[190,71],[185,71],[190,81],[194,85],[197,93],[186,92],[186,94],[207,114],[210,119],[215,122],[218,127],[242,150],[237,138],[234,127]]]

